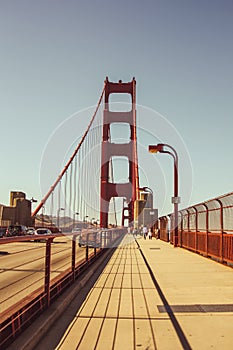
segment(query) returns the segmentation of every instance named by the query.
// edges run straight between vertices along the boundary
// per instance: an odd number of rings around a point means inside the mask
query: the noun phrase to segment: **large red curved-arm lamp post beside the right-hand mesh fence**
[[[169,148],[168,151],[164,148]],[[178,204],[180,203],[180,197],[178,196],[178,155],[172,146],[166,143],[158,143],[157,145],[149,146],[150,153],[167,153],[170,154],[174,160],[174,196],[172,197],[172,204],[174,204],[174,247],[178,246]]]

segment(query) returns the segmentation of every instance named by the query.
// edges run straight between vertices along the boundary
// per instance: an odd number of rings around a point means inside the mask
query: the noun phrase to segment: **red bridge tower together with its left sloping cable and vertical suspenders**
[[[131,110],[111,111],[111,94],[129,94]],[[102,104],[103,115],[99,113]],[[111,126],[114,123],[128,124],[130,135],[125,143],[111,142]],[[128,181],[125,183],[114,181],[114,157],[128,159]],[[99,188],[95,184],[96,177],[100,179]],[[32,216],[35,217],[46,206],[49,208],[50,217],[53,218],[63,208],[63,214],[73,217],[74,221],[75,215],[79,215],[80,218],[93,216],[99,219],[100,227],[106,228],[109,224],[109,213],[112,214],[111,219],[115,220],[112,224],[117,225],[114,212],[117,197],[124,198],[121,224],[132,225],[136,211],[135,203],[139,199],[134,78],[128,83],[113,83],[106,78],[96,110],[83,137]]]

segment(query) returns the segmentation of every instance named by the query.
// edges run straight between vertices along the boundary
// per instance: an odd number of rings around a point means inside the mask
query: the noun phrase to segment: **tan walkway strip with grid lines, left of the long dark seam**
[[[128,242],[127,242],[128,240]],[[90,291],[57,349],[179,347],[138,246],[125,239]],[[168,336],[164,339],[165,334]],[[172,345],[171,345],[172,344]]]

